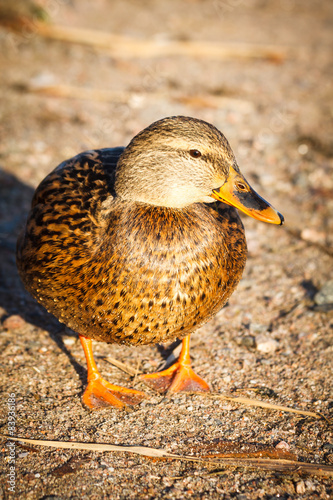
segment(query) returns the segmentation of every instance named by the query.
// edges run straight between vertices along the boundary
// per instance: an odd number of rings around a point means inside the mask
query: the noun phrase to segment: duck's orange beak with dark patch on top
[[[283,215],[261,198],[242,174],[233,167],[230,167],[229,176],[223,186],[214,189],[211,196],[223,203],[233,205],[254,219],[271,224],[284,222]]]

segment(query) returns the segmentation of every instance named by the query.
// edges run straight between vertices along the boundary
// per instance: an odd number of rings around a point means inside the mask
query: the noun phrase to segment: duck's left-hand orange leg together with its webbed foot
[[[79,335],[81,345],[87,360],[88,385],[84,391],[82,401],[92,410],[108,406],[126,408],[136,405],[145,398],[145,393],[126,389],[107,382],[99,373],[92,352],[91,339]]]

